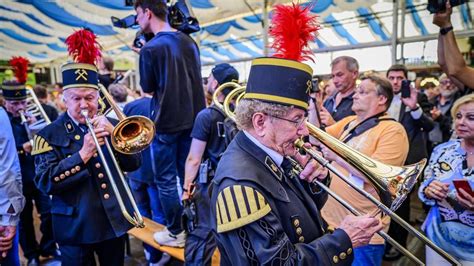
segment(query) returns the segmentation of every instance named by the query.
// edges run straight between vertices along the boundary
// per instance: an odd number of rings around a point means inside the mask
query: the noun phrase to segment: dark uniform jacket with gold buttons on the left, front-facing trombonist
[[[132,227],[122,216],[100,157],[95,154],[87,164],[82,161],[79,150],[84,135],[64,113],[34,139],[35,183],[52,195],[53,232],[59,244],[98,243],[122,236]],[[105,145],[101,149],[121,195],[125,195],[110,154]],[[140,155],[115,156],[123,171],[140,166]]]

